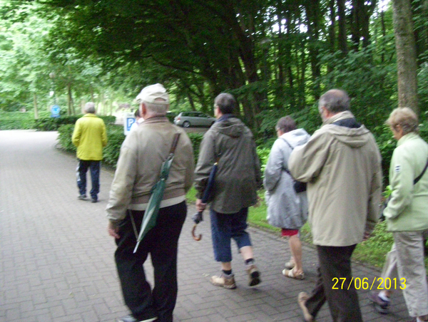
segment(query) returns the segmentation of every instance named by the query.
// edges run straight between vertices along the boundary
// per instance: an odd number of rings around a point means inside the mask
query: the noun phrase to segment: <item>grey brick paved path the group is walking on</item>
[[[56,132],[0,131],[0,321],[115,321],[127,313],[113,262],[115,244],[106,232],[104,209],[113,174],[101,171],[100,202],[76,199],[76,158],[56,149]],[[250,228],[263,283],[250,289],[245,266],[234,249],[238,289],[209,284],[218,273],[209,222],[199,224],[199,242],[190,237],[190,215],[180,237],[178,258],[179,322],[302,321],[296,303],[300,291],[315,282],[315,249],[304,246],[307,279],[281,275],[288,246],[277,235]],[[148,276],[152,276],[149,263]],[[379,271],[355,264],[356,277]],[[365,321],[407,321],[399,291],[388,316],[379,316],[360,291]],[[330,321],[327,305],[317,321]]]

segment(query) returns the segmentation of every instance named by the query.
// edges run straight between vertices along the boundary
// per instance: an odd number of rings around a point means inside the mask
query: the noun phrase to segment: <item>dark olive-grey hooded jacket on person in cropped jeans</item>
[[[223,115],[224,116],[224,115]],[[218,160],[211,208],[233,214],[257,202],[261,187],[260,162],[253,133],[238,118],[217,120],[203,136],[195,170],[195,188],[202,197],[207,178]]]

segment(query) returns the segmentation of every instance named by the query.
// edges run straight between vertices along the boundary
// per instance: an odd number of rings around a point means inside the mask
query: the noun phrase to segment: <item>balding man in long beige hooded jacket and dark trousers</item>
[[[307,182],[308,221],[317,246],[319,275],[312,294],[299,294],[305,321],[328,301],[333,321],[362,321],[352,280],[351,256],[379,218],[381,157],[373,135],[350,112],[343,90],[329,90],[318,103],[323,120],[290,155],[295,180]]]

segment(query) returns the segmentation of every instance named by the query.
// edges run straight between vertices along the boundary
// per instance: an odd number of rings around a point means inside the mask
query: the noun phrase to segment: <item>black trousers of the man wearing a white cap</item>
[[[144,212],[132,211],[138,232]],[[187,214],[185,202],[161,208],[156,227],[151,229],[133,254],[136,234],[128,214],[119,225],[120,239],[115,259],[121,279],[123,298],[134,318],[138,321],[158,317],[158,322],[173,321],[177,301],[177,253],[178,237]],[[146,281],[143,264],[148,254],[154,269],[154,287]]]

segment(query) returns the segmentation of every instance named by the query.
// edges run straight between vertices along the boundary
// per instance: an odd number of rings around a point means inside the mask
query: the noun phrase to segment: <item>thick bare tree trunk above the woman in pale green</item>
[[[414,113],[419,114],[416,46],[410,1],[392,1],[395,48],[397,51],[398,106],[400,108],[412,108]]]

